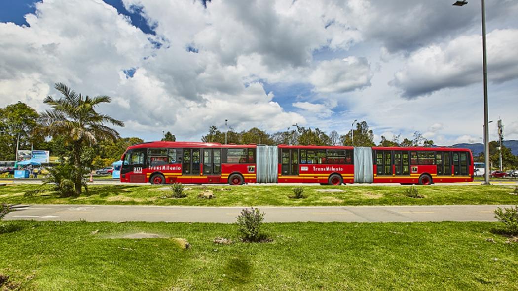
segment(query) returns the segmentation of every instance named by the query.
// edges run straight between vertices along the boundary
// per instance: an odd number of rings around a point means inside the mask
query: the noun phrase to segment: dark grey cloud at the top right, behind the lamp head
[[[456,36],[480,27],[480,2],[462,8],[448,1],[351,0],[343,2],[352,25],[363,37],[381,41],[387,52],[411,52],[438,39]],[[486,3],[487,21],[513,18],[518,2],[513,0]]]

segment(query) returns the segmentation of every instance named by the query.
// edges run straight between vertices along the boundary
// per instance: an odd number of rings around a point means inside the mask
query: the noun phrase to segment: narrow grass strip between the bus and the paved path
[[[89,195],[59,198],[51,191],[34,197],[23,194],[38,185],[12,184],[0,187],[0,202],[97,205],[185,205],[185,206],[339,206],[339,205],[515,205],[514,187],[504,186],[417,186],[424,198],[404,195],[409,186],[303,186],[307,198],[293,199],[292,186],[186,186],[188,197],[170,198],[169,186],[98,185]],[[198,198],[204,190],[214,199]],[[342,190],[343,192],[318,192]]]

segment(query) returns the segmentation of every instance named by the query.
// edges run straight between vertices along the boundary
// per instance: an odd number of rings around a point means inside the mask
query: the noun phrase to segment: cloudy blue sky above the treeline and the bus
[[[209,125],[480,142],[480,1],[0,0],[0,107],[64,82],[109,95],[123,136]],[[491,138],[518,139],[518,0],[486,3]]]

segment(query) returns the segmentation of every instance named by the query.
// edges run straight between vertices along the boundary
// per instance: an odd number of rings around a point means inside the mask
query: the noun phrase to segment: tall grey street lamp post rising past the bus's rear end
[[[489,126],[488,126],[488,114],[487,114],[487,52],[486,52],[486,41],[485,41],[485,5],[484,0],[482,1],[482,58],[483,58],[483,72],[484,72],[484,160],[485,160],[485,173],[484,173],[484,184],[489,185]],[[468,4],[467,0],[457,1],[453,6],[464,6]]]

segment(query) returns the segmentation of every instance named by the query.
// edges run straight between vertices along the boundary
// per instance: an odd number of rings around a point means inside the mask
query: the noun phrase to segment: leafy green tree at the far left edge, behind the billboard
[[[34,132],[38,117],[36,110],[22,102],[0,108],[0,159],[15,159],[18,137],[20,150],[30,150],[31,143],[39,149],[45,139]]]

